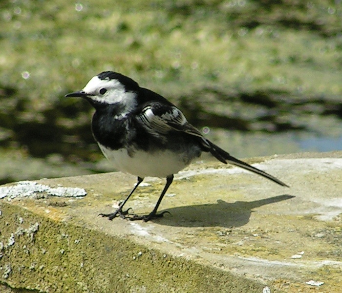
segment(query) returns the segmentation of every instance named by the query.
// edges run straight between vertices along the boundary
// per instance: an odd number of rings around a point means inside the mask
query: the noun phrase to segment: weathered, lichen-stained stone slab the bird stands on
[[[342,292],[342,152],[249,163],[291,188],[195,163],[161,204],[171,215],[148,223],[97,216],[127,195],[132,176],[39,180],[88,194],[4,197],[0,281],[37,292]],[[145,182],[127,203],[136,213],[150,212],[164,185]]]

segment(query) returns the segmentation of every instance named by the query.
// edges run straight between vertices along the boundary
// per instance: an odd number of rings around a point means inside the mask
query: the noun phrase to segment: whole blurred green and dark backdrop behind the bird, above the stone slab
[[[341,135],[340,0],[11,0],[0,23],[0,157],[12,165],[101,158],[92,109],[64,94],[104,70],[171,99],[197,127]]]

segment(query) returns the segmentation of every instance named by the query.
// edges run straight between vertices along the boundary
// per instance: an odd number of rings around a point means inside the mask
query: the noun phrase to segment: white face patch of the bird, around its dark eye
[[[106,88],[105,94],[100,94],[100,89]],[[90,99],[105,103],[105,104],[121,104],[125,105],[125,111],[129,111],[136,105],[135,93],[127,92],[125,86],[118,80],[99,79],[94,76],[83,88],[83,91],[89,96]]]

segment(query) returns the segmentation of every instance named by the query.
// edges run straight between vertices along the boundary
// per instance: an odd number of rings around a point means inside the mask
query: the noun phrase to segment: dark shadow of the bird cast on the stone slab
[[[217,200],[216,204],[192,205],[160,210],[168,211],[162,219],[152,221],[176,227],[240,227],[248,223],[253,209],[294,198],[289,194],[278,195],[256,201],[227,203]]]

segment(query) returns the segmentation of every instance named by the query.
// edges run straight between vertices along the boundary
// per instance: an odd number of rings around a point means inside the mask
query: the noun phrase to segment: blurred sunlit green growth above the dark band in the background
[[[115,70],[192,88],[342,91],[340,1],[1,1],[0,84],[39,111]]]

